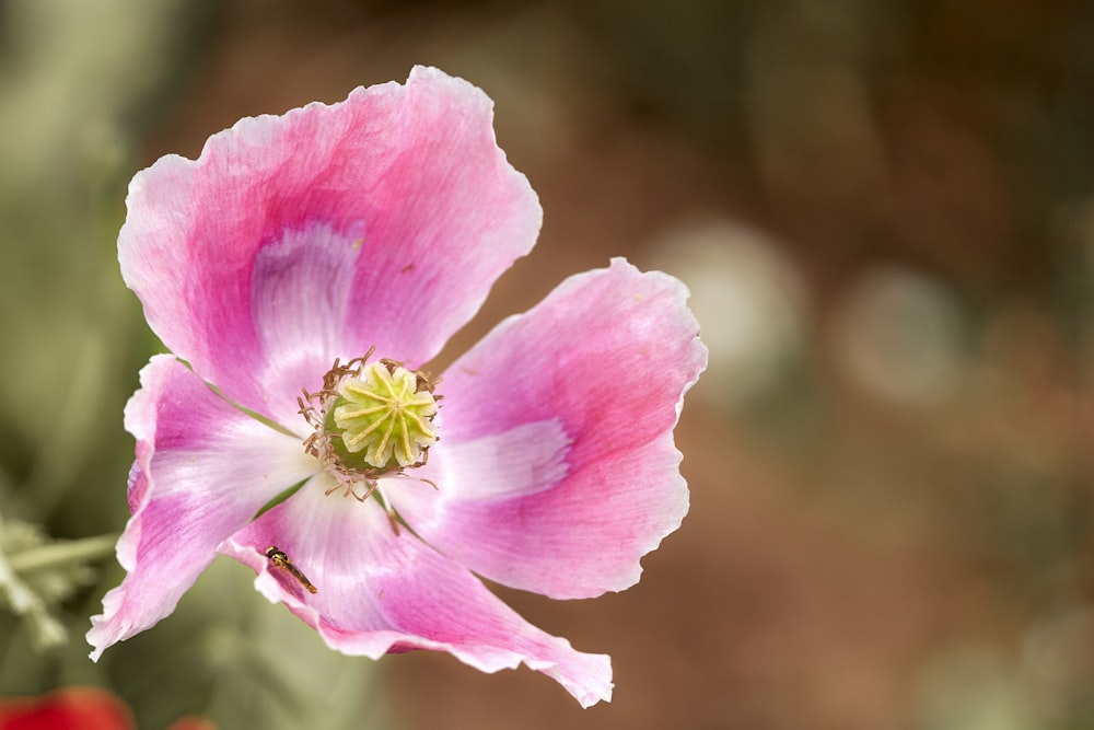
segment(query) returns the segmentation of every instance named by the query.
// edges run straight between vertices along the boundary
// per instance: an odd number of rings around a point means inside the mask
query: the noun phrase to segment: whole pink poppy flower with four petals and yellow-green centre
[[[490,100],[435,69],[243,119],[197,161],[139,173],[127,204],[121,273],[174,355],[126,408],[128,575],[92,618],[92,658],[168,615],[222,553],[345,653],[524,662],[584,706],[609,699],[608,657],[476,576],[619,591],[679,526],[672,431],[706,363],[683,285],[615,259],[443,379],[417,372],[542,218]]]

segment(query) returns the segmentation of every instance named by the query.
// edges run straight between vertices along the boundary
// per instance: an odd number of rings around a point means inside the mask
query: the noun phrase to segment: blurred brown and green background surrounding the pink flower
[[[0,695],[101,685],[153,730],[1094,728],[1081,0],[0,1],[0,548],[125,523],[158,348],[117,273],[129,177],[414,63],[494,99],[546,211],[434,370],[614,255],[693,291],[683,529],[625,593],[501,591],[610,653],[615,699],[334,654],[226,559],[92,664],[109,557],[39,586],[68,644],[0,612]]]

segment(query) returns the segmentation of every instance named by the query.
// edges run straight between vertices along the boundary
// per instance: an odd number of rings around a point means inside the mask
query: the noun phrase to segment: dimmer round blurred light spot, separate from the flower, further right
[[[963,311],[941,283],[896,266],[852,285],[829,323],[837,363],[861,387],[904,406],[930,406],[958,386]]]

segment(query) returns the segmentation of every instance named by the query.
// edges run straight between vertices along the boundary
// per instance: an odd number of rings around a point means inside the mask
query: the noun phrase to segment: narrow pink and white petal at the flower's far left
[[[91,619],[94,660],[171,614],[221,541],[317,465],[299,439],[233,407],[167,355],[141,370],[126,428],[137,437],[132,517],[117,546],[127,575]]]

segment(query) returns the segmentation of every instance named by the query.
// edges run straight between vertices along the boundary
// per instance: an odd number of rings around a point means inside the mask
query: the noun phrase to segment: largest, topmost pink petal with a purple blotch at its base
[[[538,234],[492,103],[437,69],[238,121],[138,173],[118,241],[152,329],[284,419],[335,357],[433,357]],[[291,424],[284,424],[291,426]]]

